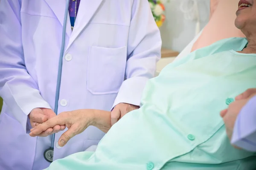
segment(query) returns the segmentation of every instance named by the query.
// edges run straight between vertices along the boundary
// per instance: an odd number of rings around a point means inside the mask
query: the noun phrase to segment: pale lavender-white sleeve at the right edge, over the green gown
[[[244,150],[256,152],[256,96],[241,109],[231,143]]]

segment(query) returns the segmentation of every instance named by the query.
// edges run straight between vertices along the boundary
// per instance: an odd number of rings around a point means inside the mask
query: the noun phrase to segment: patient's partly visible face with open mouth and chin
[[[256,0],[240,0],[236,16],[237,28],[244,33],[254,31],[256,29]]]

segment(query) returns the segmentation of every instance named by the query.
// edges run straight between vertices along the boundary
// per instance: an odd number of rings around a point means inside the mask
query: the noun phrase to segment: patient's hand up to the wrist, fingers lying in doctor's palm
[[[94,110],[84,109],[70,112],[62,112],[46,122],[37,125],[29,133],[30,136],[40,136],[43,132],[56,126],[67,126],[68,130],[64,132],[58,144],[63,147],[72,137],[82,133],[88,126],[93,125],[95,115]]]

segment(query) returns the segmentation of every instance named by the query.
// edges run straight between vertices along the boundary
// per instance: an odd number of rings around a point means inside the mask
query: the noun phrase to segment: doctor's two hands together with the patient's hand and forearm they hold
[[[51,109],[36,108],[29,114],[32,125],[30,136],[49,136],[64,130],[58,145],[63,147],[73,137],[82,133],[88,126],[98,127],[103,132],[108,132],[110,127],[121,119],[126,113],[138,109],[139,106],[120,103],[112,112],[93,109],[81,109],[62,112],[56,116]]]

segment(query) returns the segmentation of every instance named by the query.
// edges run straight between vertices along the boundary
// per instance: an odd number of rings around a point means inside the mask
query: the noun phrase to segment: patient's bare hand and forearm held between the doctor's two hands
[[[62,112],[33,128],[29,135],[32,137],[41,136],[45,130],[55,125],[66,125],[68,128],[58,141],[59,146],[63,147],[71,138],[82,133],[88,126],[98,127],[107,133],[111,128],[111,112],[93,109]]]

